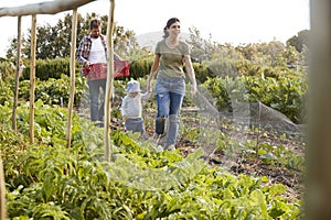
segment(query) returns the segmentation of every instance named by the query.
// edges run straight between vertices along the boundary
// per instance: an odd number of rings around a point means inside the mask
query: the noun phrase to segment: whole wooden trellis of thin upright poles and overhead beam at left
[[[15,113],[18,107],[18,90],[19,90],[19,64],[21,56],[21,18],[23,15],[31,15],[31,64],[30,64],[30,143],[34,143],[34,89],[35,89],[35,47],[36,47],[36,15],[38,14],[55,14],[63,11],[73,10],[73,30],[72,30],[72,48],[71,48],[71,64],[70,64],[70,75],[71,75],[71,89],[70,89],[70,100],[68,100],[68,119],[66,128],[66,141],[67,147],[71,147],[71,128],[73,118],[73,106],[74,106],[74,94],[75,94],[75,51],[76,51],[76,37],[77,37],[77,8],[93,2],[95,0],[54,0],[34,4],[26,4],[22,7],[13,8],[0,8],[0,19],[1,16],[18,16],[18,57],[17,57],[17,70],[15,70],[15,91],[14,91],[14,105],[13,105],[13,117],[12,124],[13,130],[17,130]],[[114,11],[115,11],[115,0],[110,0],[109,19],[107,26],[107,63],[108,63],[108,79],[106,87],[106,105],[105,105],[105,119],[106,123],[105,130],[105,160],[110,160],[110,95],[113,94],[114,84],[114,48],[113,48],[113,33],[114,33]],[[1,152],[0,152],[1,153]],[[6,219],[6,198],[4,198],[4,173],[2,168],[2,160],[0,154],[0,219]]]

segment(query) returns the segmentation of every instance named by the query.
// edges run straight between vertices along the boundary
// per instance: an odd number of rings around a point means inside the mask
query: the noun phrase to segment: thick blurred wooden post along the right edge
[[[311,0],[307,220],[331,219],[331,2]]]

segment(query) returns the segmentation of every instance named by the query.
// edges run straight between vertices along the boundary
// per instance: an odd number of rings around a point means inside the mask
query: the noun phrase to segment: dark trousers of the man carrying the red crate
[[[88,80],[90,121],[104,121],[107,79]],[[102,92],[100,92],[102,89]],[[103,97],[100,97],[103,95]]]

